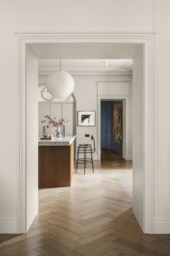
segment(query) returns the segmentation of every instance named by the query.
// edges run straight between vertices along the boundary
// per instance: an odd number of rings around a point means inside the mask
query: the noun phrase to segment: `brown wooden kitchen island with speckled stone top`
[[[73,177],[73,141],[76,136],[38,140],[38,185],[70,187]]]

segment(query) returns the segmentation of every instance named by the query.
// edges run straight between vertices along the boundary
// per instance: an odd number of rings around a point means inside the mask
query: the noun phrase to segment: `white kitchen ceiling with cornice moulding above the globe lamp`
[[[107,62],[107,66],[104,64]],[[132,59],[63,59],[61,69],[71,75],[128,75],[132,76]],[[39,76],[60,69],[58,59],[39,59]]]

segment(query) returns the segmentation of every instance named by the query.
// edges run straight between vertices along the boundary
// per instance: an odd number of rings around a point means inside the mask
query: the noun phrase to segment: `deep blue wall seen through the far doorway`
[[[101,101],[101,148],[112,149],[122,155],[122,144],[113,138],[113,106],[122,101]]]

